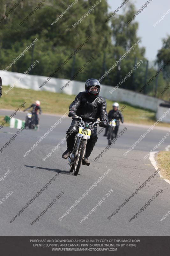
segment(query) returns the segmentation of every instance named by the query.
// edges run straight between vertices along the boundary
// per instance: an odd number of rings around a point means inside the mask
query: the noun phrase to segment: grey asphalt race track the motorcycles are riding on
[[[11,115],[12,112],[0,110],[0,115]],[[25,116],[26,113],[21,111],[16,115],[17,118],[23,120]],[[149,157],[146,160],[143,157],[166,135],[168,128],[154,128],[127,156],[124,156],[123,153],[149,127],[121,124],[119,132],[124,127],[127,131],[122,136],[119,134],[120,138],[115,145],[94,161],[107,147],[107,140],[102,132],[98,135],[97,144],[89,157],[91,165],[82,165],[79,174],[73,176],[69,173],[68,160],[61,157],[66,149],[66,142],[46,161],[42,160],[66,136],[71,118],[63,119],[34,150],[23,157],[60,116],[41,115],[40,118],[39,132],[33,130],[19,132],[15,140],[12,140],[11,144],[0,154],[0,178],[10,170],[4,180],[0,180],[1,236],[170,236],[169,219],[160,221],[170,210],[170,184],[161,179],[158,173],[110,220],[107,219],[156,171]],[[98,131],[100,129],[98,128]],[[9,127],[1,128],[0,148],[3,148],[17,131],[18,129]],[[169,138],[167,138],[158,150],[165,150],[169,144]],[[90,192],[62,220],[59,220],[108,169],[111,171],[103,176],[100,183],[96,183],[97,186],[93,186]],[[56,179],[52,180],[57,173],[59,174]],[[51,184],[42,190],[23,212],[18,214],[50,179]],[[129,222],[129,219],[160,189],[163,191],[159,196],[155,196],[151,204],[147,205],[137,218]],[[112,190],[113,192],[110,192],[107,197],[107,192]],[[8,193],[11,193],[9,197],[6,196]],[[99,201],[102,202],[100,206]],[[47,211],[37,218],[45,209]],[[89,214],[92,209],[95,210]],[[19,216],[10,223],[17,214]],[[88,219],[80,223],[80,220],[87,214],[89,214]],[[31,225],[30,223],[36,218],[38,220]]]

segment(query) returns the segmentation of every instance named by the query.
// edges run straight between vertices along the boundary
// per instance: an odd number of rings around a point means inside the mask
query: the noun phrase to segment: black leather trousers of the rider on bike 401
[[[79,130],[79,125],[76,124],[76,120],[74,118],[74,120],[71,122],[71,125],[70,125],[69,129],[66,132],[66,134],[67,134],[67,136],[66,136],[67,137],[67,148],[69,150],[72,150],[72,148],[74,147],[74,141],[75,141],[76,134],[78,133],[78,130]],[[98,137],[97,137],[97,127],[95,127],[94,130],[91,131],[90,139],[87,140],[85,157],[90,156],[90,154],[92,153],[92,150],[94,148],[94,145],[96,144],[97,139],[98,139]]]

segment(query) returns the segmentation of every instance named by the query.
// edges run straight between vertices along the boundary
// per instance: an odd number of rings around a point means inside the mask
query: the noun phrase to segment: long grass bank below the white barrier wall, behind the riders
[[[0,108],[16,109],[24,101],[26,101],[25,108],[29,107],[35,100],[41,101],[42,113],[63,115],[68,111],[70,103],[75,99],[76,95],[67,95],[64,93],[34,91],[30,89],[15,88],[4,93],[8,86],[2,86],[2,97],[0,99]],[[107,112],[112,109],[113,101],[107,101]],[[144,108],[134,107],[126,102],[118,102],[120,109],[122,108],[122,115],[124,121],[134,124],[148,124],[152,125],[155,120],[155,112]],[[24,108],[22,109],[24,110]],[[170,127],[170,124],[159,123],[158,126]]]

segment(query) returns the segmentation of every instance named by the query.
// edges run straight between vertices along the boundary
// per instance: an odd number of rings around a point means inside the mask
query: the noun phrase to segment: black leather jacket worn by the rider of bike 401
[[[73,110],[84,122],[94,123],[99,117],[100,121],[108,121],[106,100],[100,95],[92,98],[86,92],[79,92],[69,110]]]

